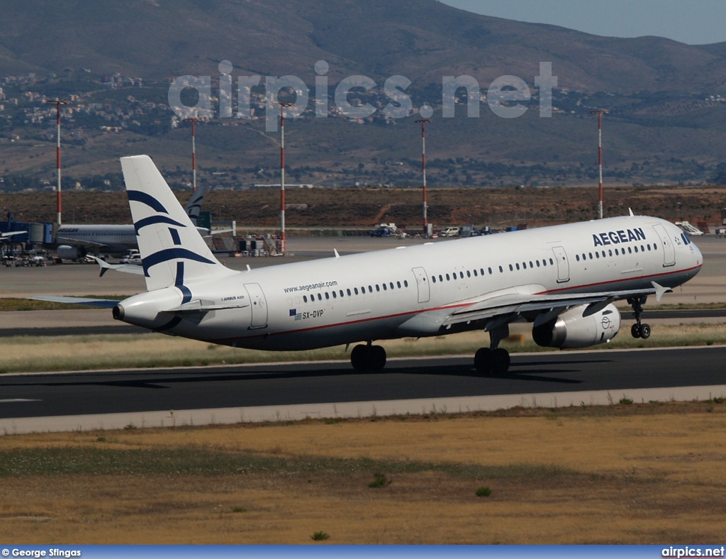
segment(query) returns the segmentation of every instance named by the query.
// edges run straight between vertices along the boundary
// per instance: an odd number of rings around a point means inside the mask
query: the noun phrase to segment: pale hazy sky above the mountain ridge
[[[726,0],[441,0],[507,20],[610,37],[655,35],[686,44],[726,41]]]

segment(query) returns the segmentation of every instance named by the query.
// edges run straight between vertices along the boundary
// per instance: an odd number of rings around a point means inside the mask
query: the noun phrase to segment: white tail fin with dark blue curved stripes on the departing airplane
[[[233,274],[214,258],[148,155],[121,158],[147,289],[176,286]]]

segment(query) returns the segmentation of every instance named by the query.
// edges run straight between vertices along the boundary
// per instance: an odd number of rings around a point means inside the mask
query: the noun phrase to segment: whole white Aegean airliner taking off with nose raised
[[[225,346],[306,350],[359,343],[351,364],[380,371],[376,340],[484,330],[480,375],[505,375],[499,343],[530,322],[539,346],[584,348],[619,332],[615,301],[635,311],[692,279],[703,256],[655,217],[613,217],[235,272],[216,260],[146,155],[121,158],[147,291],[113,308],[131,325]],[[39,297],[40,298],[40,297]],[[41,298],[74,302],[70,298]]]

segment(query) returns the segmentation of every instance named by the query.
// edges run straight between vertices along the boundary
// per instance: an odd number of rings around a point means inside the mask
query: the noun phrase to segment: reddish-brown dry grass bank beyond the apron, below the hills
[[[176,193],[186,203],[189,193]],[[290,228],[372,227],[393,221],[399,227],[419,228],[421,192],[417,188],[290,189],[286,194]],[[23,221],[53,221],[54,192],[0,192],[0,207]],[[680,211],[677,209],[680,204]],[[605,216],[635,213],[675,221],[720,223],[723,187],[611,187],[605,190]],[[65,223],[130,223],[129,203],[123,192],[63,193]],[[439,226],[529,223],[546,225],[593,219],[597,215],[594,187],[445,188],[429,189],[428,219]],[[276,227],[280,221],[277,189],[211,191],[203,209],[214,221],[237,220],[248,225]],[[22,216],[22,217],[21,217]]]

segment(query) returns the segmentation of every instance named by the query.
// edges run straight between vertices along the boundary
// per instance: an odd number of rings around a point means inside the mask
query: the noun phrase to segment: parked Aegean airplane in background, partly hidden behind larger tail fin
[[[197,187],[192,197],[184,206],[184,211],[197,227],[205,186]],[[209,229],[197,228],[203,235],[210,234]],[[57,229],[54,248],[61,260],[79,260],[85,258],[90,250],[112,255],[120,255],[132,248],[139,248],[136,242],[134,225],[62,225]]]

